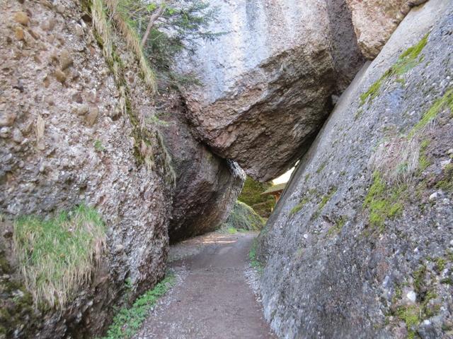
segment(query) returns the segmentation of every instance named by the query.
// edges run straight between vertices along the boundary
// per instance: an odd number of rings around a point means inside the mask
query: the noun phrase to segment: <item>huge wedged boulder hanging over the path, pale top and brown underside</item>
[[[185,90],[188,119],[221,157],[268,181],[294,165],[362,66],[342,0],[211,1],[213,42],[178,69],[202,86]]]

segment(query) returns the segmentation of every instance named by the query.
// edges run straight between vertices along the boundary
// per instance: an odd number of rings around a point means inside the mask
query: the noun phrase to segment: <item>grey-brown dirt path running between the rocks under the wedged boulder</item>
[[[134,338],[275,338],[244,275],[254,237],[211,233],[173,246],[176,286]]]

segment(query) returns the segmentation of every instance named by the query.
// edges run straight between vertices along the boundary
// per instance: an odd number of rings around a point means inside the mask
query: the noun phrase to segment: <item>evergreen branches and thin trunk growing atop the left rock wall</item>
[[[163,1],[160,4],[147,0],[104,0],[116,21],[117,28],[126,37],[130,48],[138,56],[139,65],[159,72],[166,83],[197,83],[193,76],[173,73],[171,66],[177,54],[184,50],[194,52],[197,40],[214,40],[222,32],[209,30],[217,18],[217,8],[209,1]]]

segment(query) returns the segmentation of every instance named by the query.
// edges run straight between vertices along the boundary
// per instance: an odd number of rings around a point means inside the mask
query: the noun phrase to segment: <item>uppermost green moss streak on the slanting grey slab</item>
[[[419,57],[420,53],[425,48],[426,44],[428,43],[429,33],[423,37],[420,42],[415,44],[413,47],[410,47],[403,52],[399,57],[396,63],[388,69],[384,75],[379,78],[375,83],[373,83],[367,92],[360,95],[360,105],[364,105],[365,102],[368,100],[371,102],[375,97],[377,97],[380,93],[382,85],[391,77],[396,77],[396,81],[398,81],[398,77],[402,76],[404,73],[407,73],[413,67],[420,64],[423,61],[423,57]],[[359,116],[360,117],[360,116]]]

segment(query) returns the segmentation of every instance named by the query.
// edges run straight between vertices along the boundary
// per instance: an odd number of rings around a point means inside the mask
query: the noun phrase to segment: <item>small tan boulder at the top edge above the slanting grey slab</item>
[[[374,59],[411,6],[427,0],[346,0],[352,13],[357,43],[367,59]]]

